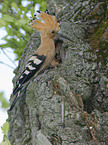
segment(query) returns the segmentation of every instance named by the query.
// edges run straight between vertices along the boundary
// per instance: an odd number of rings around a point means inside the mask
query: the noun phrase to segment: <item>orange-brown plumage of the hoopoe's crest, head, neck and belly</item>
[[[35,19],[31,23],[31,27],[39,31],[41,35],[41,45],[35,53],[39,55],[44,54],[46,56],[45,63],[41,68],[43,70],[47,68],[54,59],[55,56],[54,38],[56,37],[56,34],[59,31],[59,23],[57,23],[57,19],[55,16],[51,16],[49,14],[46,14],[45,12],[41,12],[38,17],[41,18],[44,22]],[[56,64],[58,63],[56,62],[55,65]],[[39,71],[41,71],[41,69]]]

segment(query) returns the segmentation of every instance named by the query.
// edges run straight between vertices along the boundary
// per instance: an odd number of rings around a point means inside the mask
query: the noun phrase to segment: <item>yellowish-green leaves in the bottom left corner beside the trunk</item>
[[[8,131],[9,131],[9,123],[8,123],[8,122],[5,122],[5,123],[3,124],[3,126],[1,127],[1,129],[2,129],[2,131],[3,131],[3,133],[4,133],[4,141],[2,141],[2,142],[0,143],[0,145],[11,145],[11,144],[10,144],[10,141],[9,141],[9,139],[8,139],[8,137],[7,137]]]

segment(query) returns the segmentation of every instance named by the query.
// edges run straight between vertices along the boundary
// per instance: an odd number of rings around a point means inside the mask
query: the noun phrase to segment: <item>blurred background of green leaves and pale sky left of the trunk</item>
[[[0,80],[0,128],[3,126],[3,121],[6,120],[6,110],[10,106],[9,96],[6,96],[5,90],[7,87],[10,89],[12,85],[10,84],[13,77],[11,73],[13,74],[17,67],[18,60],[33,33],[28,22],[36,10],[45,11],[46,8],[46,0],[0,0],[0,75],[4,80]],[[14,57],[11,53],[14,54]],[[2,70],[5,70],[5,73]],[[6,76],[11,78],[11,82],[6,80]],[[1,132],[0,129],[0,142],[3,139]]]

